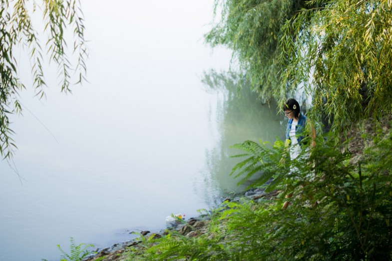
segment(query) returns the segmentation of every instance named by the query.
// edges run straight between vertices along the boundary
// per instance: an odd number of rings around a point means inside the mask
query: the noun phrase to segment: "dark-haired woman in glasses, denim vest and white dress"
[[[290,159],[295,160],[301,154],[303,147],[303,140],[307,133],[311,135],[311,148],[316,146],[316,130],[308,118],[301,113],[300,104],[295,99],[288,99],[284,104],[283,110],[286,116],[289,118],[286,128],[286,146],[290,151]],[[303,159],[307,160],[309,157],[308,153],[304,153]],[[292,173],[298,172],[298,168],[292,164],[290,166]],[[286,198],[290,198],[292,195],[286,195]],[[312,200],[312,197],[308,194],[308,198]],[[285,202],[282,209],[286,209],[289,202]],[[312,204],[313,205],[313,204]]]

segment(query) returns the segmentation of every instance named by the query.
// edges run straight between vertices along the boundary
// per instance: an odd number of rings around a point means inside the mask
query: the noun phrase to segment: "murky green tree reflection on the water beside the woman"
[[[235,164],[241,161],[230,157],[240,152],[230,147],[245,140],[273,143],[276,137],[284,138],[284,116],[277,114],[274,101],[262,104],[246,81],[234,73],[212,70],[205,73],[203,83],[207,91],[215,92],[218,97],[216,122],[215,119],[210,121],[220,134],[214,147],[206,151],[207,166],[203,174],[208,184],[204,189],[211,191],[204,195],[213,195],[212,191],[221,195],[244,191],[249,184],[237,186],[240,178],[229,176]]]

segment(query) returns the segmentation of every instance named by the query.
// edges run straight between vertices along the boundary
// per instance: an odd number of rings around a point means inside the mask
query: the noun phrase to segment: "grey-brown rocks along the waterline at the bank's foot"
[[[227,201],[240,201],[242,199],[253,201],[270,199],[278,195],[279,193],[279,191],[265,193],[264,190],[257,188],[249,190],[243,195],[236,195],[231,198],[225,198],[223,199],[222,203]],[[170,232],[177,231],[180,235],[185,237],[197,237],[206,233],[209,221],[210,219],[208,215],[200,215],[198,217],[192,217],[182,222],[172,222],[168,224],[168,227],[166,229],[159,232],[142,231],[140,235],[146,239],[158,239],[165,235],[168,235]],[[99,261],[102,260],[102,258],[104,258],[104,261],[122,261],[127,258],[124,255],[127,251],[127,248],[138,247],[138,245],[140,245],[141,243],[141,238],[137,237],[131,241],[117,243],[104,249],[97,249],[95,250],[97,254],[89,256],[85,261]]]

